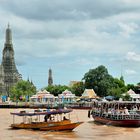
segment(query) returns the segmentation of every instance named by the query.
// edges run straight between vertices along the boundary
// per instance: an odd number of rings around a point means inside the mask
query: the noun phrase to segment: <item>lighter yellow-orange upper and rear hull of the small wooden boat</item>
[[[63,120],[57,122],[32,122],[32,123],[11,124],[11,127],[14,129],[40,129],[42,127],[47,127],[50,125],[62,125],[69,123],[71,123],[70,120]]]

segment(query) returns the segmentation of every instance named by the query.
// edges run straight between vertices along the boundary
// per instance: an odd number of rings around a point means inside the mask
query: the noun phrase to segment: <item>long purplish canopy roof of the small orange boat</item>
[[[20,112],[11,112],[11,115],[17,115],[17,116],[37,116],[37,115],[56,115],[56,114],[62,114],[62,113],[70,113],[72,112],[72,109],[58,109],[53,111],[34,111],[34,112],[26,112],[26,111],[20,111]]]

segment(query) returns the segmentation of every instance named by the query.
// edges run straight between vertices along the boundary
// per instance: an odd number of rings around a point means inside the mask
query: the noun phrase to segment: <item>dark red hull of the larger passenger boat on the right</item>
[[[139,127],[140,120],[111,120],[104,117],[93,116],[94,121],[106,124],[106,125],[114,125],[114,126],[124,126],[124,127]]]

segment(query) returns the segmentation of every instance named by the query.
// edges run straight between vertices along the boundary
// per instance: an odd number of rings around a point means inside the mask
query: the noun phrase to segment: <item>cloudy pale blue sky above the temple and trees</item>
[[[15,62],[40,89],[80,81],[104,65],[126,84],[140,82],[139,0],[0,0],[0,59],[8,23]]]

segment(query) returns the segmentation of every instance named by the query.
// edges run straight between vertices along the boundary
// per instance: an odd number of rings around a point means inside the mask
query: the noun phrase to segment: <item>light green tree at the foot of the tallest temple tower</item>
[[[21,80],[10,89],[10,98],[13,101],[23,100],[25,96],[31,96],[36,93],[36,87],[29,81]]]

